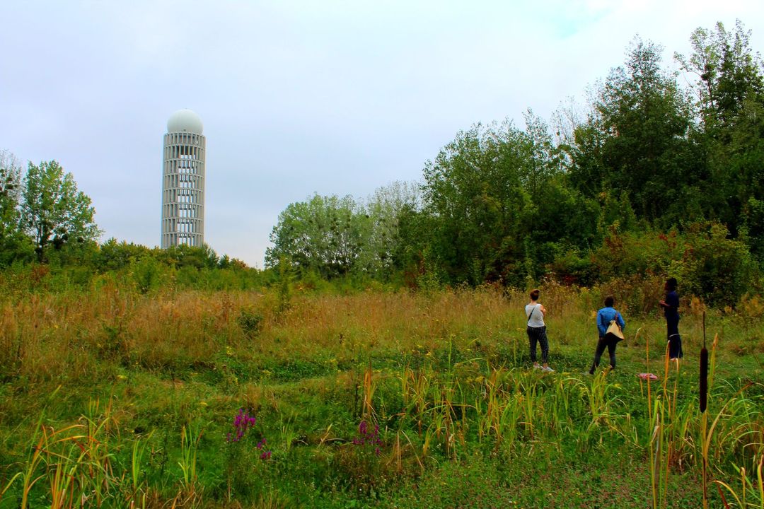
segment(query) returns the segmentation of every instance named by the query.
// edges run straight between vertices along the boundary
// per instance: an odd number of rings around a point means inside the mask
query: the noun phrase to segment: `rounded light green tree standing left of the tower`
[[[101,233],[90,198],[77,191],[72,174],[64,173],[54,160],[29,163],[21,196],[21,227],[33,237],[40,262],[46,260],[50,245],[60,249],[68,243],[93,242]]]

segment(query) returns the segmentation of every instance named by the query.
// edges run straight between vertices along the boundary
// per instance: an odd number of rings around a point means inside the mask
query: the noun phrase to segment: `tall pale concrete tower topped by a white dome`
[[[162,249],[204,243],[202,119],[178,110],[167,121],[162,164]]]

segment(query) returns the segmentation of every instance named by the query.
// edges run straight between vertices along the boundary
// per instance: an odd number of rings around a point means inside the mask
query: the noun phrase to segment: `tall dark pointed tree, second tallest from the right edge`
[[[687,216],[685,186],[703,178],[690,143],[691,101],[662,70],[662,47],[636,39],[601,87],[591,128],[602,186],[629,193],[637,217],[673,224]]]

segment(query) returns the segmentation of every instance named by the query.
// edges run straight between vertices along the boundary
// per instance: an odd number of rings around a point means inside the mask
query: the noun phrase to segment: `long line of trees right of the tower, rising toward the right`
[[[476,124],[366,200],[315,195],[280,214],[266,266],[413,285],[675,275],[711,300],[760,291],[764,64],[738,21],[662,61],[622,66],[549,121]]]

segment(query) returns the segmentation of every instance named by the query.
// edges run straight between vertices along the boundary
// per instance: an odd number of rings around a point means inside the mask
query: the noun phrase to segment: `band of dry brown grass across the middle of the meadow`
[[[542,286],[540,301],[548,310],[552,343],[593,346],[599,297],[585,289]],[[279,311],[278,301],[275,292],[140,295],[112,282],[89,292],[5,296],[0,300],[0,362],[7,366],[2,375],[24,375],[31,381],[63,373],[76,377],[91,372],[104,358],[149,369],[193,369],[197,363],[209,366],[212,357],[226,349],[244,360],[267,356],[272,362],[316,356],[364,359],[377,353],[434,351],[449,344],[461,349],[472,343],[514,342],[525,349],[526,292],[494,286],[429,293],[295,292],[286,311]],[[702,337],[694,316],[700,308],[691,304],[683,314],[685,350],[698,346]],[[254,337],[241,330],[238,317],[243,312],[262,317]],[[662,317],[623,314],[627,337],[643,327],[639,343],[643,338],[661,343]],[[733,315],[716,314],[720,323],[736,325]],[[756,350],[759,340],[746,342],[746,351]]]

